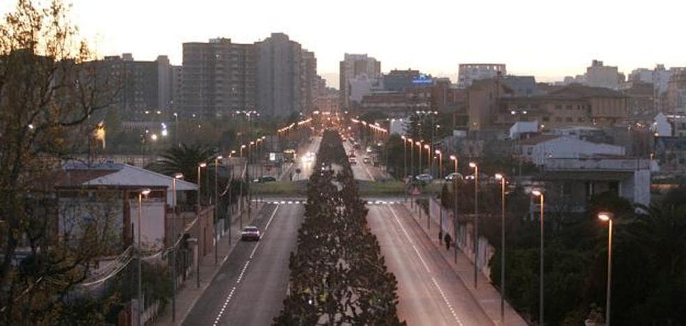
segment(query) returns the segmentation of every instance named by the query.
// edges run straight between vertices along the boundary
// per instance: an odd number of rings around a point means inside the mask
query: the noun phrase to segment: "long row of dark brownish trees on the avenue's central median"
[[[289,295],[277,325],[404,325],[397,281],[366,222],[340,136],[323,134],[291,253]]]

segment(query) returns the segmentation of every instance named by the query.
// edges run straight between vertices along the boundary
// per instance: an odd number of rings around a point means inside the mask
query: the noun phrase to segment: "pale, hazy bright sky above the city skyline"
[[[40,1],[40,0],[38,0]],[[65,0],[98,54],[137,60],[166,54],[181,64],[183,42],[225,37],[254,42],[287,33],[317,56],[337,87],[344,53],[367,53],[381,70],[457,77],[459,63],[505,63],[513,75],[554,81],[593,59],[634,68],[686,66],[680,0]],[[0,13],[15,1],[0,1]]]

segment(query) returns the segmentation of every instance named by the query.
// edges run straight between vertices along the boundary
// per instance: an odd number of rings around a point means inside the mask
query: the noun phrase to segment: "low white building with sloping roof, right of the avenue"
[[[575,137],[541,134],[519,141],[519,153],[538,166],[553,158],[578,159],[594,155],[625,155],[625,148],[608,143],[592,143]]]

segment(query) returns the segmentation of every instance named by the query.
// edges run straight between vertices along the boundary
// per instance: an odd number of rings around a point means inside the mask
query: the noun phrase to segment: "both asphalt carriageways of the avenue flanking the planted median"
[[[319,139],[313,140],[310,150],[319,147]],[[353,174],[373,180],[374,169],[357,164]],[[263,238],[236,246],[184,325],[273,324],[286,295],[289,254],[304,213],[301,203],[273,200],[265,205],[257,222]],[[400,320],[408,325],[493,325],[409,210],[383,202],[368,206],[369,228],[398,281]]]

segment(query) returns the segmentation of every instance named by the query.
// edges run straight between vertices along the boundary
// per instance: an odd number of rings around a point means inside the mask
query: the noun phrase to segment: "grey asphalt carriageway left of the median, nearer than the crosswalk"
[[[259,242],[240,242],[183,325],[272,325],[289,279],[303,205],[268,204],[257,222]]]

